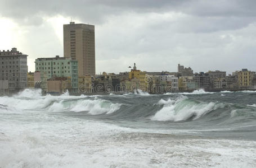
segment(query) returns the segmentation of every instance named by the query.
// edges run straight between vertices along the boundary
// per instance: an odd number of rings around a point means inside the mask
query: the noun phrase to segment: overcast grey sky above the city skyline
[[[95,25],[96,73],[256,71],[256,1],[1,0],[0,49],[63,56],[63,24]]]

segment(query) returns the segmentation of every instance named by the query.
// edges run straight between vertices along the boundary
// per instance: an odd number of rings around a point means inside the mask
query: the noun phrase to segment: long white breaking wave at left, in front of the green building
[[[21,113],[24,110],[47,112],[87,111],[89,114],[110,114],[120,109],[122,104],[101,100],[98,96],[70,96],[68,92],[60,96],[41,95],[41,90],[26,89],[13,97],[0,97],[1,111]],[[15,103],[14,103],[15,102]]]

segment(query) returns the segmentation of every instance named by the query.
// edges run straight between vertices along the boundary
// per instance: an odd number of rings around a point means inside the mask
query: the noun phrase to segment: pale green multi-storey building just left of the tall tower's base
[[[47,80],[51,77],[70,77],[70,93],[78,92],[78,70],[77,60],[59,57],[35,59],[35,71],[41,72],[41,88],[47,90]]]

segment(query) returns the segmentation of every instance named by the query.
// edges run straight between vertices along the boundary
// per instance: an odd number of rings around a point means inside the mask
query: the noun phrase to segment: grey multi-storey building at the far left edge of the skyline
[[[26,88],[27,57],[28,55],[17,51],[16,48],[0,51],[0,80],[8,81],[6,94],[15,94]]]

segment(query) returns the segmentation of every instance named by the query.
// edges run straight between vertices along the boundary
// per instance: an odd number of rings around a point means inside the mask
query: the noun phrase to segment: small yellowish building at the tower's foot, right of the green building
[[[92,77],[91,76],[78,77],[78,92],[92,93]]]

